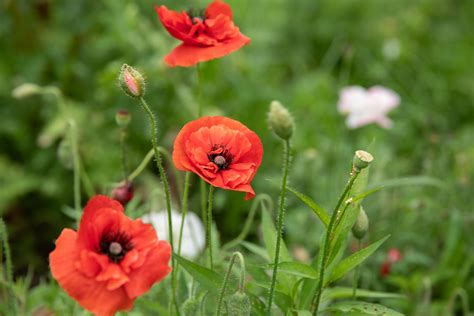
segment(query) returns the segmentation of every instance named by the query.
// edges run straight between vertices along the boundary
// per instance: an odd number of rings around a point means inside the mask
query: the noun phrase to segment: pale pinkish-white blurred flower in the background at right
[[[358,128],[377,123],[383,128],[391,128],[393,123],[387,113],[400,104],[400,96],[394,91],[374,86],[364,89],[360,86],[343,88],[339,93],[338,110],[347,114],[346,125]]]

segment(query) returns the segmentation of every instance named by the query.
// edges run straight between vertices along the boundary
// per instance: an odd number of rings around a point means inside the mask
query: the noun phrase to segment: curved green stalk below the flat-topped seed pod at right
[[[331,215],[331,220],[329,221],[328,229],[326,231],[326,238],[324,239],[324,248],[323,248],[323,257],[321,260],[321,266],[319,267],[319,280],[318,280],[318,287],[316,289],[316,293],[313,297],[313,302],[314,302],[314,310],[313,310],[313,315],[318,314],[318,309],[319,309],[319,303],[321,300],[321,293],[323,291],[323,284],[324,284],[324,273],[326,270],[326,263],[329,258],[329,248],[331,244],[331,238],[332,238],[332,233],[333,229],[335,228],[335,223],[337,219],[339,218],[339,209],[341,208],[341,205],[343,201],[345,200],[347,194],[349,193],[350,189],[354,185],[354,181],[357,179],[357,176],[359,175],[359,172],[357,172],[355,169],[352,170],[350,174],[349,181],[347,182],[344,191],[342,192],[341,196],[339,197],[339,200],[337,201],[336,207],[334,208],[332,215]]]

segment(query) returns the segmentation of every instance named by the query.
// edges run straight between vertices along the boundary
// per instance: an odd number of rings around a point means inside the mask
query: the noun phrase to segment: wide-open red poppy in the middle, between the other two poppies
[[[186,124],[174,142],[173,162],[211,185],[255,193],[250,186],[262,162],[260,138],[242,123],[222,116],[205,116]]]

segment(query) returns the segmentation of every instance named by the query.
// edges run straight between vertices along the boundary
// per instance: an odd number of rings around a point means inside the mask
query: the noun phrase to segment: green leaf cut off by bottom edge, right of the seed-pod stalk
[[[362,315],[384,315],[401,316],[403,314],[380,304],[366,302],[338,302],[331,304],[327,311],[336,312],[334,315],[362,316]]]

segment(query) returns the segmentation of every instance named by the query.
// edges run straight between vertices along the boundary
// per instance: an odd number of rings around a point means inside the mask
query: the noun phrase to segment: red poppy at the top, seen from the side
[[[230,6],[221,0],[213,1],[199,16],[168,10],[164,5],[155,6],[155,10],[166,30],[183,42],[164,58],[171,67],[220,58],[250,42],[234,25]]]

